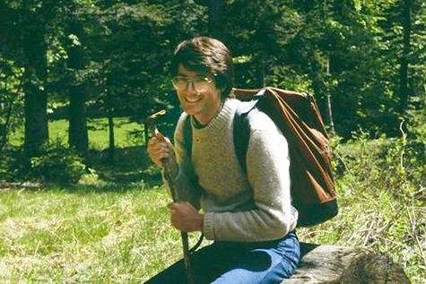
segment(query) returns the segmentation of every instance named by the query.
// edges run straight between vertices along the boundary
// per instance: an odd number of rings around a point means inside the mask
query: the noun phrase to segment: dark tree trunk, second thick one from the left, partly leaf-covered
[[[79,22],[74,19],[70,23],[70,33],[78,37],[79,40],[83,37],[83,30]],[[68,47],[68,67],[74,70],[84,68],[83,47],[81,44],[74,42],[69,43]],[[87,118],[86,118],[86,83],[73,82],[69,87],[69,144],[84,159],[89,156],[89,141],[87,133]]]

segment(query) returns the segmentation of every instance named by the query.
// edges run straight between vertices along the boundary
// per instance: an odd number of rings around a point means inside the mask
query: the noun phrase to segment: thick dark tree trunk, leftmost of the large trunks
[[[45,29],[42,19],[34,13],[22,15],[25,30],[22,32],[25,71],[24,150],[28,158],[39,155],[40,147],[48,142],[48,95],[44,89],[47,74]],[[41,22],[34,25],[34,22]]]

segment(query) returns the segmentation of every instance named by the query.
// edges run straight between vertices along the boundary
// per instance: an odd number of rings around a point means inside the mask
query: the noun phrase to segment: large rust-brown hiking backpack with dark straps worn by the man
[[[331,147],[317,103],[306,92],[272,87],[257,90],[233,89],[244,101],[234,116],[234,145],[239,164],[246,170],[250,117],[256,111],[270,116],[289,143],[291,156],[291,198],[299,211],[298,226],[307,227],[332,219],[337,214]],[[192,129],[184,127],[187,152],[192,148]]]

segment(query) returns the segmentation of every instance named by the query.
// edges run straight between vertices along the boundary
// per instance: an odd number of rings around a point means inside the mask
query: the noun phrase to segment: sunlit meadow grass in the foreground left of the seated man
[[[141,283],[180,255],[163,188],[0,193],[0,283]]]

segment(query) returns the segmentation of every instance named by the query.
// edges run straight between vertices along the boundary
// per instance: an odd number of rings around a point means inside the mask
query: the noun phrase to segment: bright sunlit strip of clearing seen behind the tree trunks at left
[[[64,144],[68,143],[68,121],[65,119],[53,120],[48,123],[50,140],[60,140]],[[93,118],[87,123],[89,134],[89,147],[91,149],[102,150],[109,147],[109,128],[107,118]],[[130,133],[142,131],[143,125],[129,123],[126,117],[114,118],[114,137],[116,147],[135,146],[137,143],[144,143],[143,137],[132,138]],[[13,133],[11,145],[19,146],[23,142],[23,129]]]

